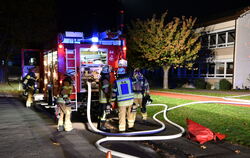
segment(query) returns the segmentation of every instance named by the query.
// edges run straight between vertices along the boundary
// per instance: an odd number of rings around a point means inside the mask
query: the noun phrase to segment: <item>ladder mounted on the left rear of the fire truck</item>
[[[73,79],[73,91],[71,96],[73,95],[75,100],[71,100],[72,111],[77,111],[77,67],[76,67],[76,51],[75,49],[66,49],[66,71],[72,70],[74,71],[74,79]]]

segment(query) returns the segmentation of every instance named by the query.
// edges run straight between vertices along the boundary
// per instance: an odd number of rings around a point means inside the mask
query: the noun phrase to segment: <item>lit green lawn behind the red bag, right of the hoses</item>
[[[192,102],[190,100],[151,96],[154,104],[166,104],[169,107]],[[148,107],[149,116],[153,116],[162,107]],[[214,132],[226,134],[226,140],[234,144],[250,147],[250,107],[225,104],[196,104],[174,109],[168,118],[186,128],[189,118]],[[160,119],[163,120],[163,117]]]

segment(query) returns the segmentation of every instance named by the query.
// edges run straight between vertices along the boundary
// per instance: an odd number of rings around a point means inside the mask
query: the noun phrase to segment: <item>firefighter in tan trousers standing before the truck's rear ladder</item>
[[[71,123],[71,103],[70,95],[73,90],[72,79],[67,74],[63,80],[62,86],[59,91],[59,98],[57,99],[57,105],[59,110],[59,119],[57,130],[58,131],[71,131],[73,129]]]

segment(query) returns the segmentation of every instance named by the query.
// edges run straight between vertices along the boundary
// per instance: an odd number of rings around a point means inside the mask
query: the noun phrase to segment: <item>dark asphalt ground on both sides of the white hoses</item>
[[[38,158],[105,158],[94,143],[103,138],[87,129],[85,120],[73,119],[72,132],[56,132],[56,122],[43,110],[26,108],[17,98],[0,95],[0,157]],[[110,119],[108,126],[115,132],[117,119]],[[166,124],[158,135],[179,132]],[[135,131],[154,129],[159,125],[149,119],[145,124],[140,118]],[[165,141],[106,142],[104,147],[142,158],[249,158],[250,149],[225,141],[210,141],[203,145],[185,137]],[[116,158],[113,156],[113,158]]]

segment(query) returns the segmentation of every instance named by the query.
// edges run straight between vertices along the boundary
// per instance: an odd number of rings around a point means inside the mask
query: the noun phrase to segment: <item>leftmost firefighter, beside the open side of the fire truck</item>
[[[36,91],[36,75],[34,73],[35,67],[29,69],[28,74],[23,78],[24,94],[27,95],[26,107],[31,107],[33,103],[33,95]]]

